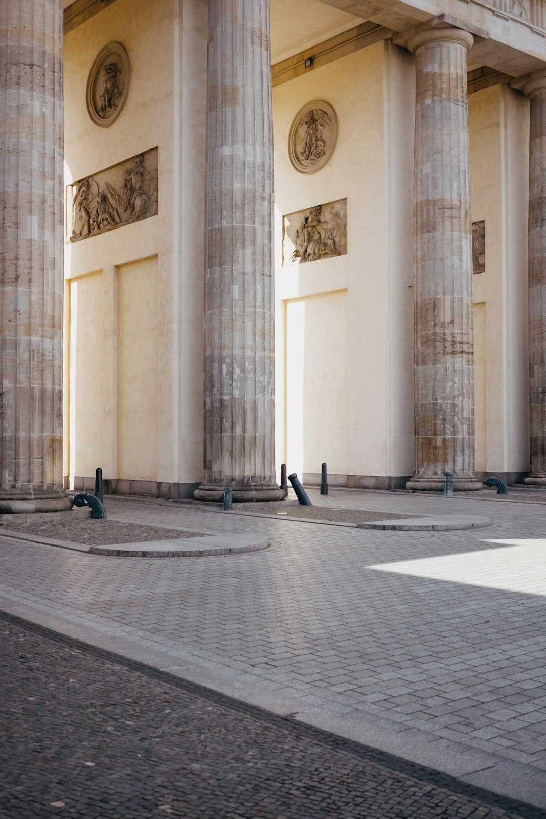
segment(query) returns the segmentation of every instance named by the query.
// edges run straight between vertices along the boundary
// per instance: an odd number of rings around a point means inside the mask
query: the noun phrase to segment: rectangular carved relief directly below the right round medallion
[[[339,199],[282,217],[282,264],[345,256],[347,200]]]

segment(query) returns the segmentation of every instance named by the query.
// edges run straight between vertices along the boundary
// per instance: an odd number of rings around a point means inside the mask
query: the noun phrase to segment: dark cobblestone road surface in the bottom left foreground
[[[2,819],[540,815],[16,618],[0,636]]]

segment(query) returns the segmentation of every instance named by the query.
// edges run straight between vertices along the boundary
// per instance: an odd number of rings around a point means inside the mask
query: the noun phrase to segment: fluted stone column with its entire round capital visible
[[[415,473],[408,489],[481,488],[474,477],[472,224],[467,49],[472,34],[414,34]]]

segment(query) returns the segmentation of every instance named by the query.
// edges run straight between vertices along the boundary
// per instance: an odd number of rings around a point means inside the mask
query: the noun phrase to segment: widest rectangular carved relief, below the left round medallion
[[[112,165],[66,189],[70,242],[157,214],[158,150]]]

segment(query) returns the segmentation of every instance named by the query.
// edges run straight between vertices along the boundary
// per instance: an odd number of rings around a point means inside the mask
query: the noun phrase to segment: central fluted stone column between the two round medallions
[[[205,477],[199,500],[279,500],[274,475],[268,0],[209,0]]]

